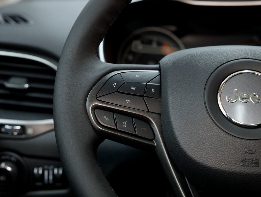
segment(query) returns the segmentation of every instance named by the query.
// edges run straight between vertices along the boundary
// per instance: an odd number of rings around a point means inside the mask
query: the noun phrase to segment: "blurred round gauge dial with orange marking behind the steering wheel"
[[[158,64],[164,56],[185,49],[180,39],[160,27],[138,29],[120,47],[118,64]]]

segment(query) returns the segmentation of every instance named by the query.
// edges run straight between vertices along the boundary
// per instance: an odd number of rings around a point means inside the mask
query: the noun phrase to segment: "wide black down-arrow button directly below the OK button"
[[[98,99],[116,105],[122,105],[129,108],[148,111],[143,98],[138,96],[115,92],[112,94],[105,95],[103,97],[99,97]]]

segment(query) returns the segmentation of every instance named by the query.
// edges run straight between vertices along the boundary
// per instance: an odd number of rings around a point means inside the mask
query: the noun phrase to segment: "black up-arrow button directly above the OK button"
[[[148,83],[154,77],[159,75],[159,72],[123,72],[121,76],[125,83]]]

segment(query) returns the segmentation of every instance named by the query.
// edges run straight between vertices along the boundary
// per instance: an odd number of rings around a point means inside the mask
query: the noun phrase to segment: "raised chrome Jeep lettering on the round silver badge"
[[[252,103],[259,103],[260,95],[257,93],[251,94],[250,97],[249,97],[249,94],[247,94],[247,93],[241,93],[238,95],[238,89],[234,89],[234,97],[231,98],[230,96],[226,96],[226,99],[229,103],[235,103],[238,101],[238,99],[241,103],[247,103],[249,100]]]

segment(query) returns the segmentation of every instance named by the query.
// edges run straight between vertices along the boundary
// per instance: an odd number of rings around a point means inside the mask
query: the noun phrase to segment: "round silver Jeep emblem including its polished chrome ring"
[[[242,70],[229,75],[219,86],[218,106],[236,125],[261,126],[261,72]],[[218,112],[217,112],[218,113]]]

